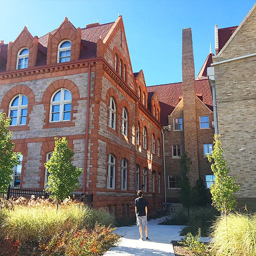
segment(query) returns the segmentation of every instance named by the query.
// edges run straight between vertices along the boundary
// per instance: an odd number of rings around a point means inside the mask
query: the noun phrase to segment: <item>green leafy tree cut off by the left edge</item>
[[[13,167],[19,164],[20,153],[13,152],[12,132],[7,128],[11,119],[0,113],[0,193],[5,193],[12,181]]]

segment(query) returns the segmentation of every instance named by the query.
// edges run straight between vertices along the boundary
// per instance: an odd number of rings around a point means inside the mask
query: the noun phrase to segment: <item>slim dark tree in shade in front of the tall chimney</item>
[[[192,187],[190,184],[189,173],[191,171],[192,161],[187,155],[185,151],[184,154],[180,157],[180,171],[182,174],[181,180],[178,182],[178,187],[180,190],[178,191],[180,201],[183,206],[187,208],[188,218],[189,218],[189,208],[193,204],[192,198]]]

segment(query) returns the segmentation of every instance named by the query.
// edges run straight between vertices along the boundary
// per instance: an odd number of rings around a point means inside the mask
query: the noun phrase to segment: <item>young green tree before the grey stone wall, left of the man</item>
[[[58,210],[59,200],[70,196],[79,186],[79,176],[82,169],[71,163],[74,156],[72,148],[68,147],[68,140],[55,139],[54,152],[49,161],[45,163],[50,175],[48,176],[46,191],[50,193],[50,198],[57,200],[56,210]]]

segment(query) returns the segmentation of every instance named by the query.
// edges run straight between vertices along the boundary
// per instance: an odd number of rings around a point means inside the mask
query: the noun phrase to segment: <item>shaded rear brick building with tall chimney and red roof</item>
[[[213,173],[206,157],[212,150],[214,135],[213,105],[206,69],[213,54],[208,54],[195,80],[191,29],[183,30],[182,82],[147,87],[157,92],[163,125],[165,192],[167,202],[179,202],[177,181],[181,178],[179,160],[186,150],[193,162],[191,182],[198,178],[207,187]]]

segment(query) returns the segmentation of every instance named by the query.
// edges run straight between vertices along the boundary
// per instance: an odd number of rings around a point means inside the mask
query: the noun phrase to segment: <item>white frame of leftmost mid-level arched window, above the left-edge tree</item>
[[[16,124],[10,124],[10,126],[26,125],[27,116],[28,116],[28,104],[22,105],[23,97],[25,97],[27,102],[28,102],[28,97],[26,95],[22,94],[22,93],[19,93],[18,95],[15,95],[10,101],[9,110],[8,110],[8,117],[11,118],[11,123],[12,123],[12,119],[16,118]],[[16,98],[18,98],[18,105],[17,106],[11,106]],[[26,109],[26,122],[24,124],[20,124],[20,121],[22,120],[22,117],[25,117],[25,115],[22,115],[22,110],[25,110],[25,109]],[[11,111],[15,111],[15,110],[17,110],[17,116],[11,117],[11,113],[12,113]]]

